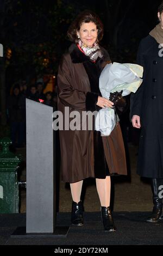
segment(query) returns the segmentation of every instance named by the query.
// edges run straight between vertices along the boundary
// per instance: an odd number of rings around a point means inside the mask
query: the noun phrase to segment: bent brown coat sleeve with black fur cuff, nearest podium
[[[70,64],[62,57],[58,70],[58,97],[62,104],[74,109],[95,111],[98,94],[83,92],[72,86]]]

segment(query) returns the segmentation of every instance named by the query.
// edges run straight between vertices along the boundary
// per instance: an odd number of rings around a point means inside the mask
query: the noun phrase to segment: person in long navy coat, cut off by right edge
[[[153,212],[148,222],[162,216],[160,185],[163,185],[163,2],[158,9],[159,24],[139,45],[137,63],[143,66],[143,83],[131,95],[133,126],[141,128],[137,173],[151,178]]]

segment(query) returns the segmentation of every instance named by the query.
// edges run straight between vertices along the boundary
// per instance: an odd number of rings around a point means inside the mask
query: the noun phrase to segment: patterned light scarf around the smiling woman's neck
[[[84,51],[85,55],[90,57],[91,60],[96,61],[98,57],[102,58],[103,54],[99,45],[95,42],[92,47],[87,47],[82,40],[79,40],[79,46]]]

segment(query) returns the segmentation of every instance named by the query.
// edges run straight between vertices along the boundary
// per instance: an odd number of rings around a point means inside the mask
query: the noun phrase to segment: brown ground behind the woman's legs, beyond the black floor
[[[129,146],[130,175],[128,178],[114,177],[112,188],[114,194],[114,211],[151,211],[152,192],[148,180],[142,180],[136,174],[137,147]],[[17,149],[18,154],[26,157],[26,149]],[[22,170],[21,179],[26,180],[26,169]],[[71,211],[70,186],[60,181],[59,188],[59,211]],[[84,200],[85,211],[99,211],[100,203],[96,191],[94,179],[86,180],[86,192]],[[21,212],[26,212],[26,190],[21,190]]]

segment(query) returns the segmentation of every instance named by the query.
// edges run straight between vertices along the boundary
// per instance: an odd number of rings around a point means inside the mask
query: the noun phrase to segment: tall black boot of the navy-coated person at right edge
[[[162,219],[162,200],[159,198],[159,186],[162,179],[152,179],[153,211],[147,222],[158,222]]]

